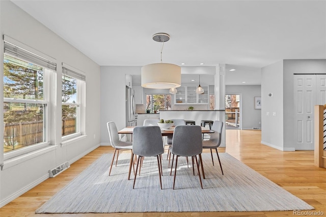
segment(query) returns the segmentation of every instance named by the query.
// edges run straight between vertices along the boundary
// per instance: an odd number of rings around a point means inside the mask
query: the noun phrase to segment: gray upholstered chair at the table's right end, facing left
[[[219,156],[219,152],[218,152],[218,147],[221,145],[221,140],[222,140],[222,128],[223,128],[223,122],[222,121],[214,121],[213,122],[213,125],[212,125],[211,129],[214,131],[214,133],[210,133],[210,139],[209,140],[203,141],[203,148],[205,148],[205,149],[209,148],[210,149],[210,155],[212,157],[213,166],[214,166],[214,160],[213,160],[212,149],[216,150],[216,154],[218,155],[221,171],[222,171],[222,174],[223,174],[221,160],[220,160],[220,156]]]

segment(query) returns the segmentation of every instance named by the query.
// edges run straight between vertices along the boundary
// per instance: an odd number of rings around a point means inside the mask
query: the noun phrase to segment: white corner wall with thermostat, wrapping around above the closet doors
[[[326,73],[326,60],[282,60],[262,68],[262,133],[263,144],[294,151],[293,74]],[[268,97],[273,93],[273,97]],[[266,116],[266,112],[270,115]],[[273,112],[277,116],[273,116]]]

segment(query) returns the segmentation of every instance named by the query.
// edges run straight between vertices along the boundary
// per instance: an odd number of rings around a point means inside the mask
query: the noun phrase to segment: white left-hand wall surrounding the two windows
[[[17,161],[0,171],[0,207],[28,191],[49,177],[48,170],[56,167],[62,161],[70,163],[84,156],[99,146],[100,143],[100,67],[75,49],[58,35],[48,30],[44,25],[26,14],[10,1],[0,1],[0,32],[34,49],[55,58],[57,63],[56,110],[57,117],[52,127],[56,135],[51,138],[54,149],[45,151],[23,161]],[[3,37],[0,47],[3,48]],[[91,42],[90,42],[91,43]],[[3,49],[1,49],[3,58]],[[86,134],[77,142],[60,146],[61,142],[61,63],[86,72]],[[3,68],[1,70],[3,77]],[[2,84],[2,83],[1,83]],[[3,89],[3,84],[0,86]],[[3,102],[2,102],[3,103]],[[2,106],[2,105],[1,105]],[[1,119],[3,121],[3,119]],[[3,132],[3,124],[0,131]],[[95,136],[94,136],[95,135]],[[3,136],[3,134],[1,134]],[[1,147],[3,149],[3,147]]]

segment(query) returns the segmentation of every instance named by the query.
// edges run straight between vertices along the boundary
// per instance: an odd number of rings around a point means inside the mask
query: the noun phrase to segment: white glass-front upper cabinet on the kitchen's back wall
[[[208,104],[208,86],[202,86],[204,93],[197,94],[197,86],[181,86],[174,96],[175,104]]]

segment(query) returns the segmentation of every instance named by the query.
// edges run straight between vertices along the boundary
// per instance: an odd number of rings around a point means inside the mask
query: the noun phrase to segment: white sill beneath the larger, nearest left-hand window
[[[40,149],[37,149],[35,151],[31,151],[31,152],[28,152],[28,153],[21,154],[19,156],[15,156],[15,157],[12,157],[12,158],[9,158],[9,159],[5,159],[4,164],[1,165],[1,170],[6,170],[6,169],[11,168],[13,166],[16,166],[18,164],[21,164],[24,161],[33,159],[33,158],[35,158],[37,156],[40,156],[40,155],[43,155],[45,153],[56,150],[57,147],[58,146],[56,146],[56,145],[49,145],[49,146],[47,146],[45,148],[40,148]]]

